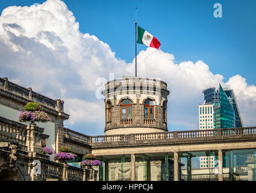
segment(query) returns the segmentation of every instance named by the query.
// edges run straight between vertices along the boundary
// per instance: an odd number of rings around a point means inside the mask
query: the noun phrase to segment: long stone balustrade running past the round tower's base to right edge
[[[161,139],[161,141],[196,141],[196,140],[216,140],[216,139],[233,139],[234,136],[245,136],[256,138],[256,127],[243,127],[243,128],[220,128],[215,130],[190,130],[190,131],[170,131],[159,133],[138,133],[138,134],[118,134],[118,135],[103,135],[91,136],[90,144],[98,144],[104,142],[117,142],[126,141],[130,144],[144,141],[154,142]],[[189,139],[189,141],[188,141]],[[159,142],[161,142],[159,141]]]

